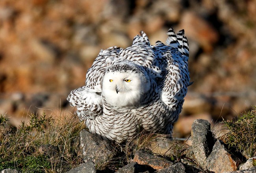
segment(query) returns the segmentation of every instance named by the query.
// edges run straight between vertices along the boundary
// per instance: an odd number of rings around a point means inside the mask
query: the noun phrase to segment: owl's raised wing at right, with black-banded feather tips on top
[[[178,109],[183,103],[189,85],[188,55],[189,48],[184,30],[174,33],[170,28],[166,44],[158,41],[153,46],[162,77],[158,80],[161,100],[171,109]]]

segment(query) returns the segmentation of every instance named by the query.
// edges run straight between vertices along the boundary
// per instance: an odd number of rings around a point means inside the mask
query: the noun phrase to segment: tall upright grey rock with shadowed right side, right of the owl
[[[210,123],[207,120],[195,120],[192,124],[191,138],[195,158],[200,166],[206,169],[206,159],[214,145]]]

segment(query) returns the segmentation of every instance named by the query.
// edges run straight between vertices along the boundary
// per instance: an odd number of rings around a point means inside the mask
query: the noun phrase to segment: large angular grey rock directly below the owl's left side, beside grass
[[[104,168],[104,162],[108,162],[117,153],[110,142],[85,129],[80,132],[75,145],[78,147],[78,155],[83,156],[84,162],[92,161],[96,167],[100,166],[99,169]]]

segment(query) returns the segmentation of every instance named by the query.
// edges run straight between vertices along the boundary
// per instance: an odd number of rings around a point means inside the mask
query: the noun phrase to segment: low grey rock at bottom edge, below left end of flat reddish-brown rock
[[[154,169],[152,167],[146,165],[140,165],[137,162],[131,162],[130,164],[120,168],[116,173],[139,173],[139,172],[153,172]]]

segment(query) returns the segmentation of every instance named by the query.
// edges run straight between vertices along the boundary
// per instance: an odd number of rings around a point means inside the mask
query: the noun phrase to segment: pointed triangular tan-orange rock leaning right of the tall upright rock
[[[228,152],[221,140],[217,140],[206,162],[209,171],[226,172],[236,171],[240,160]]]

